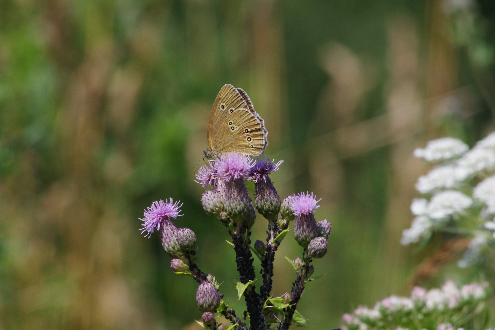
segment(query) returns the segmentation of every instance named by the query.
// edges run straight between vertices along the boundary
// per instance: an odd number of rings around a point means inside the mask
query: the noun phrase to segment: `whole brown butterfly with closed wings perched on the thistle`
[[[254,111],[246,92],[226,84],[211,108],[206,131],[208,148],[204,155],[216,159],[224,152],[235,150],[257,156],[268,145],[267,135],[265,122]]]

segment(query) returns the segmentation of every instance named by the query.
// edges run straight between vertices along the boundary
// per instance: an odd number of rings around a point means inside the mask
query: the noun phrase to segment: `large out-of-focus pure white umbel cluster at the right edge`
[[[495,216],[495,132],[471,150],[460,140],[442,138],[414,150],[414,155],[439,164],[418,179],[415,187],[425,198],[412,201],[411,211],[416,217],[411,227],[403,231],[400,242],[417,243],[433,231],[455,224],[463,215],[481,222],[475,225],[486,222],[479,227],[493,230],[495,237],[495,222],[490,221]],[[475,182],[479,184],[474,187]],[[479,246],[473,245],[471,252],[476,247],[479,251]],[[471,261],[475,257],[473,253],[469,256]]]

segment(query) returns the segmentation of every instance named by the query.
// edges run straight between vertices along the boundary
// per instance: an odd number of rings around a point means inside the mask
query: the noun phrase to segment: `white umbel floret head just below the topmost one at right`
[[[466,179],[464,171],[458,171],[453,164],[439,166],[427,175],[419,177],[416,190],[421,193],[430,193],[442,189],[452,189]]]

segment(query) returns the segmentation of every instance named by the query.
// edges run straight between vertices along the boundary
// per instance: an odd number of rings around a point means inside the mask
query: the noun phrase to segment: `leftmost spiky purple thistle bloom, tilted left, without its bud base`
[[[145,237],[150,237],[154,231],[160,231],[162,227],[165,225],[166,221],[170,221],[170,218],[176,219],[178,216],[183,215],[179,214],[181,211],[179,208],[182,206],[179,200],[174,203],[172,198],[170,200],[165,199],[154,201],[147,210],[145,210],[144,218],[139,218],[139,220],[144,221],[143,228],[140,229],[141,234],[147,232],[148,234]]]

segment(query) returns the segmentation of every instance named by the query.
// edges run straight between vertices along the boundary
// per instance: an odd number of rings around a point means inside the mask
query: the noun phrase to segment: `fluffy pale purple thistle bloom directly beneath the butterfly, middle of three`
[[[227,182],[241,179],[249,174],[252,167],[252,159],[245,153],[227,152],[223,153],[215,162],[218,176]]]

